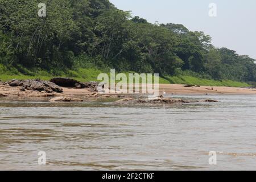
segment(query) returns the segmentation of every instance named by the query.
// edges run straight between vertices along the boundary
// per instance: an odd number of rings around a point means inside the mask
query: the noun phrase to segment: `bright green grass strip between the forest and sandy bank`
[[[26,80],[40,78],[41,80],[50,80],[52,77],[71,77],[79,81],[97,81],[97,77],[100,73],[109,73],[110,71],[101,71],[99,69],[88,68],[79,69],[78,71],[67,71],[61,72],[59,75],[53,75],[46,71],[36,71],[29,72],[28,75],[22,74],[18,71],[15,73],[7,72],[5,70],[0,70],[0,80],[8,81],[11,79]],[[126,72],[128,75],[128,72]],[[128,77],[128,76],[127,76]],[[154,80],[154,79],[153,79]],[[232,86],[232,87],[249,87],[250,85],[246,82],[237,82],[231,80],[208,80],[203,78],[197,78],[193,76],[166,76],[165,78],[159,78],[160,84],[191,84],[191,85],[201,85],[201,86]]]

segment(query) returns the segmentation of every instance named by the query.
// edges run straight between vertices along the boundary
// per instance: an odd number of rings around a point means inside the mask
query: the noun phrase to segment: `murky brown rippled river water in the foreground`
[[[179,97],[179,96],[175,96]],[[0,100],[0,169],[255,170],[255,96],[176,106]],[[38,152],[46,165],[38,165]],[[217,165],[208,162],[217,152]]]

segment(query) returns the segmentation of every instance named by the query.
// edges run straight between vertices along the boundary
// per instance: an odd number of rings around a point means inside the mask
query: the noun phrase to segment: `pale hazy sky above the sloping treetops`
[[[255,0],[110,0],[118,9],[132,11],[148,22],[183,24],[203,31],[216,47],[226,47],[256,59]],[[217,17],[209,16],[216,3]]]

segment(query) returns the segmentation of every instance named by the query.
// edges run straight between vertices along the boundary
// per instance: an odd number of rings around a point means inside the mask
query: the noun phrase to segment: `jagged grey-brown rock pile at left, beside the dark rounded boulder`
[[[38,90],[38,91],[46,91],[47,93],[52,93],[52,92],[63,92],[63,89],[60,88],[60,86],[57,86],[53,82],[49,81],[42,81],[39,79],[36,80],[11,80],[8,82],[10,86],[22,86],[20,88],[22,91],[24,89],[27,90]]]

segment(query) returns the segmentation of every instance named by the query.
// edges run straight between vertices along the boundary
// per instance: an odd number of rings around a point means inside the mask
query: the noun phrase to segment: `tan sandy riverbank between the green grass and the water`
[[[164,94],[256,94],[256,89],[249,88],[234,88],[226,86],[192,86],[189,85],[179,85],[179,84],[160,84],[159,85],[159,95]],[[129,97],[128,94],[98,94],[97,92],[90,92],[88,88],[76,89],[76,88],[64,88],[63,92],[57,93],[47,93],[45,91],[39,92],[36,90],[21,90],[20,86],[9,86],[8,84],[0,84],[0,98],[15,98],[18,100],[23,100],[28,97],[33,97],[35,99],[45,98],[49,100],[52,97],[70,97],[70,98],[108,98],[108,97]],[[135,93],[139,95],[139,93]],[[131,96],[131,95],[130,95]]]

